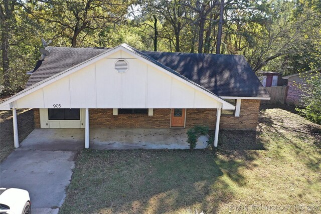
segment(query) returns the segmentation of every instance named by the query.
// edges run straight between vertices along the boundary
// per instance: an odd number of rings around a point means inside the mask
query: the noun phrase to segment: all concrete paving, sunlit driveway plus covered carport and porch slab
[[[94,149],[187,149],[186,129],[91,129]],[[205,148],[208,137],[196,148]],[[58,213],[83,129],[35,129],[0,165],[0,186],[29,191],[33,213]]]

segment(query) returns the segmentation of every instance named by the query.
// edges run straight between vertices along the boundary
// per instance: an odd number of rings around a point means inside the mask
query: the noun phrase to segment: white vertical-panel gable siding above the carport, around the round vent
[[[128,70],[119,73],[123,57]],[[17,108],[219,108],[222,103],[120,50],[16,102]]]

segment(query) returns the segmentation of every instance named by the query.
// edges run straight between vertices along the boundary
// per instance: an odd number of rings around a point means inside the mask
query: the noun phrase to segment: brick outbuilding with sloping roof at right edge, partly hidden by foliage
[[[316,72],[319,71],[321,71],[321,68],[314,71],[307,71],[304,73],[297,73],[282,77],[282,79],[287,80],[288,86],[286,104],[299,105],[300,95],[302,95],[302,91],[298,88],[298,85],[304,83],[305,78],[315,75]]]

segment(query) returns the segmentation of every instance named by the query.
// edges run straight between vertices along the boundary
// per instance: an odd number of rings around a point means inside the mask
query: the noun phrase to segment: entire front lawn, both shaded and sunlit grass
[[[216,151],[82,150],[60,213],[321,210],[321,126],[288,108],[261,109],[256,132],[221,131],[219,143]]]

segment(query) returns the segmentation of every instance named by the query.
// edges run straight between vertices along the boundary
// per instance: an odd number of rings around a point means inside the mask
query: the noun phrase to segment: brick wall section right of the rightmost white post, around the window
[[[220,129],[255,130],[261,100],[242,100],[240,116],[221,116]]]

